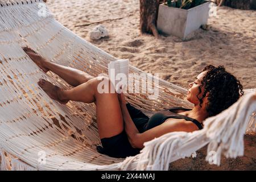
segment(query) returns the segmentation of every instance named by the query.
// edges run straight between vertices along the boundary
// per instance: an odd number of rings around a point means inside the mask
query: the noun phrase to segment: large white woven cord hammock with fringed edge
[[[44,4],[43,4],[44,5]],[[169,164],[208,144],[220,165],[243,155],[243,135],[255,132],[256,89],[245,90],[229,109],[204,121],[193,133],[173,132],[144,143],[140,154],[126,159],[99,154],[96,106],[82,102],[61,105],[38,86],[39,78],[71,88],[53,73],[44,73],[23,51],[28,46],[47,60],[92,76],[108,73],[115,57],[73,34],[46,10],[42,1],[0,0],[0,156],[2,170],[168,170]],[[143,73],[130,66],[130,73]],[[130,80],[130,79],[129,79]],[[138,77],[133,80],[141,83]],[[171,106],[192,108],[186,89],[159,79],[156,100],[148,94],[127,94],[130,104],[150,116]]]

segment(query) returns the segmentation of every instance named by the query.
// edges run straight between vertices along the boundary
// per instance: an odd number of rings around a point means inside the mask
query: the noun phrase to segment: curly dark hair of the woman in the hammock
[[[207,71],[207,74],[201,81],[197,98],[200,101],[200,107],[202,107],[203,98],[209,92],[207,112],[208,117],[211,117],[228,109],[244,92],[240,81],[232,74],[226,72],[223,66],[214,67],[213,65],[208,65],[202,72],[204,71]],[[204,93],[199,98],[203,86]]]

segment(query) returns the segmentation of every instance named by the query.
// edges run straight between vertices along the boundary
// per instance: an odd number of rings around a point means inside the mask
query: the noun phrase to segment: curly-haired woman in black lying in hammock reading
[[[243,94],[242,85],[224,67],[209,65],[189,84],[187,100],[193,109],[172,107],[160,110],[148,118],[141,110],[127,104],[121,93],[98,93],[100,82],[111,82],[107,77],[93,77],[80,70],[51,63],[30,48],[27,55],[44,71],[52,71],[68,84],[70,90],[61,89],[40,79],[39,86],[52,99],[66,104],[79,101],[96,104],[98,133],[102,154],[116,158],[137,155],[143,143],[172,131],[192,132],[203,129],[203,121],[234,104]]]

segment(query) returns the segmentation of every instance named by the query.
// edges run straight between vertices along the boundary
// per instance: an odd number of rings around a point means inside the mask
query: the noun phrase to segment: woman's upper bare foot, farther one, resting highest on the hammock
[[[44,59],[42,56],[40,56],[38,53],[36,53],[34,50],[28,47],[24,47],[23,51],[26,52],[26,54],[30,57],[32,61],[36,65],[38,65],[39,68],[43,69],[44,73],[47,73],[49,71],[48,68],[46,68],[47,60]]]

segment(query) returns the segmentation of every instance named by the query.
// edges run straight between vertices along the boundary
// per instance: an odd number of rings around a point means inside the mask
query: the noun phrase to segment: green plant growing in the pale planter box
[[[189,9],[203,4],[205,0],[167,0],[167,6]]]

